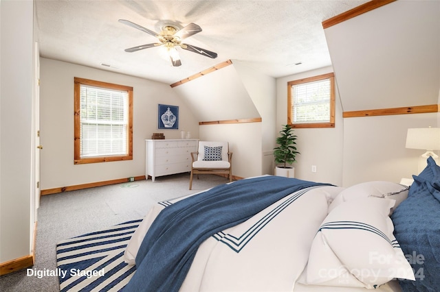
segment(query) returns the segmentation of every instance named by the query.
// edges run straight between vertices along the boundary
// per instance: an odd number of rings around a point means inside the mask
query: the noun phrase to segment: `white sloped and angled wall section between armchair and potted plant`
[[[272,173],[275,95],[273,77],[258,73],[239,61],[173,88],[199,121],[262,118],[261,123],[201,125],[199,138],[228,141],[234,152],[232,174],[247,178]]]

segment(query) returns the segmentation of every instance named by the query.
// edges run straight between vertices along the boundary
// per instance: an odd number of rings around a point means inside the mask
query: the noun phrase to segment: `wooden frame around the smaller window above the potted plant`
[[[297,84],[314,82],[318,80],[330,80],[330,121],[328,123],[293,123],[292,117],[292,90],[291,87]],[[287,123],[296,128],[313,128],[313,127],[335,127],[335,74],[327,73],[313,77],[307,77],[299,80],[287,82]]]

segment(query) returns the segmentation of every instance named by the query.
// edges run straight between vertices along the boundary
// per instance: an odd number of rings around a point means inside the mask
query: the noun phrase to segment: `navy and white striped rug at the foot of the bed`
[[[61,291],[120,291],[135,272],[124,250],[142,219],[67,239],[56,245]]]

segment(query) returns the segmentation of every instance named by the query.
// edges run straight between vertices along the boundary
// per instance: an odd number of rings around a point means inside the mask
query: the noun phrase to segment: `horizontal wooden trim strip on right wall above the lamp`
[[[438,104],[430,104],[428,106],[407,106],[403,108],[380,108],[377,110],[355,110],[352,112],[343,112],[343,118],[353,117],[375,117],[388,116],[393,114],[423,114],[427,112],[439,112]]]

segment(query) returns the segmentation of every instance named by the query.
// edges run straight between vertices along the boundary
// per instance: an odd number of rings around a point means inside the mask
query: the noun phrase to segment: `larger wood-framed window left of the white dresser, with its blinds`
[[[75,77],[74,163],[133,159],[133,88]]]

